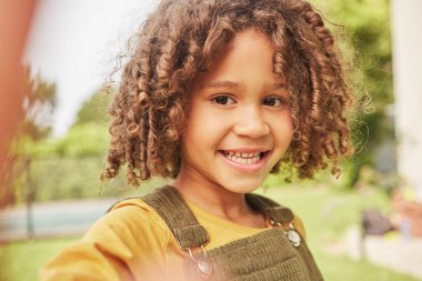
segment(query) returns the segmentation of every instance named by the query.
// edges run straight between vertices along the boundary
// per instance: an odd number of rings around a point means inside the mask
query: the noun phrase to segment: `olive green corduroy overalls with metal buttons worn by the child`
[[[323,280],[305,242],[292,227],[283,227],[292,225],[293,213],[270,199],[247,194],[249,205],[268,215],[274,228],[207,251],[207,230],[173,187],[157,189],[142,200],[161,215],[179,247],[189,253],[189,280]]]

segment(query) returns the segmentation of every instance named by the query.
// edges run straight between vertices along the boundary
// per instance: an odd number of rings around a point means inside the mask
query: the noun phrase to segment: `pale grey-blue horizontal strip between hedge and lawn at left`
[[[82,234],[117,199],[36,203],[34,238]],[[0,210],[0,242],[27,239],[24,207]]]

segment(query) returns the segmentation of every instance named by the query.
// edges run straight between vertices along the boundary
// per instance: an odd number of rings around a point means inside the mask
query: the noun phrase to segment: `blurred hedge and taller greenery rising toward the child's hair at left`
[[[8,193],[9,199],[4,203],[22,203],[28,200],[29,191],[37,201],[98,197],[109,143],[109,99],[105,93],[93,94],[62,138],[40,139],[28,133],[20,134],[11,153],[20,155],[18,160],[29,158],[31,165],[23,165],[20,160],[13,163],[13,192]],[[29,177],[31,182],[28,182]],[[117,187],[121,185],[124,185],[121,180],[113,181],[102,195],[115,194],[119,190]]]

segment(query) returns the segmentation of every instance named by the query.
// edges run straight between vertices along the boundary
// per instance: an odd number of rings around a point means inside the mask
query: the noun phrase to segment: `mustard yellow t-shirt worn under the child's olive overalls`
[[[208,231],[205,250],[264,231],[239,225],[188,202]],[[299,218],[295,229],[304,237]],[[183,261],[171,230],[141,199],[118,203],[100,218],[81,241],[66,248],[40,270],[41,280],[184,281]]]

